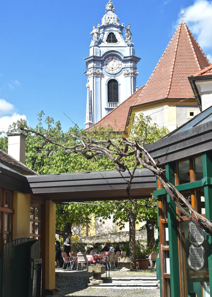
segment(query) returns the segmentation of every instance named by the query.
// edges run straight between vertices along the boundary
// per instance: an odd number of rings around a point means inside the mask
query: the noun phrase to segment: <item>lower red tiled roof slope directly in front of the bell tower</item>
[[[145,85],[144,85],[145,86]],[[133,93],[129,98],[119,104],[116,108],[114,108],[111,112],[106,114],[104,118],[102,118],[97,123],[91,125],[85,131],[91,131],[95,127],[108,127],[108,125],[116,128],[116,131],[119,129],[121,131],[125,131],[125,125],[129,113],[129,108],[134,105],[134,102],[138,100],[141,96],[144,86],[139,88],[135,93]]]

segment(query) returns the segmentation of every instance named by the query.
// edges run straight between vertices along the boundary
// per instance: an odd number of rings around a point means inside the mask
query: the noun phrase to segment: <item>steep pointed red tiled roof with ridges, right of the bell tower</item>
[[[193,97],[188,76],[209,65],[188,26],[181,21],[134,105],[165,98]]]

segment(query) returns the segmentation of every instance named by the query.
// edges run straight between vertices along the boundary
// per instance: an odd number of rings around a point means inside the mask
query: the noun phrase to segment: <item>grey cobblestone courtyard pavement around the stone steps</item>
[[[87,296],[87,297],[159,297],[159,289],[136,289],[136,288],[91,288],[87,286],[92,273],[87,271],[67,271],[56,269],[56,289],[60,291],[59,297],[64,296]],[[103,274],[102,276],[105,276]],[[110,272],[110,277],[148,277],[156,276],[154,269],[131,272]]]

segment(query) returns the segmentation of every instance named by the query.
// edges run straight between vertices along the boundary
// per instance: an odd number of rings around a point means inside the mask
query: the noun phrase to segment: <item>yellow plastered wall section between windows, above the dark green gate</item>
[[[14,192],[13,195],[13,239],[29,237],[30,194]]]

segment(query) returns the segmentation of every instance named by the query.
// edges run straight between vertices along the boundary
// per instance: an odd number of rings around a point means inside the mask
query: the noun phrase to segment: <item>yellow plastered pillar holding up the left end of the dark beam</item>
[[[55,221],[56,204],[46,201],[45,289],[55,289]]]

